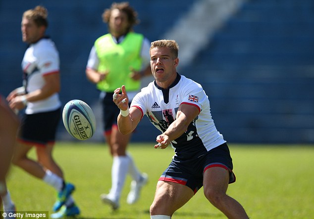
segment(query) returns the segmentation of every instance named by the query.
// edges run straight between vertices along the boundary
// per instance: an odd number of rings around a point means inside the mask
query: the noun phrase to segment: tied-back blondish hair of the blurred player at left
[[[36,6],[34,9],[29,9],[23,13],[23,18],[33,20],[40,27],[48,27],[48,10],[43,6]]]

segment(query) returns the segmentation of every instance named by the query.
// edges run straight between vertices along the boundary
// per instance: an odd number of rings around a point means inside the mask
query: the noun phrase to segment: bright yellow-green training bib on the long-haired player
[[[99,72],[109,71],[104,81],[97,84],[97,88],[106,92],[113,92],[125,85],[126,90],[138,90],[140,81],[130,78],[131,69],[139,71],[142,66],[141,48],[143,35],[128,33],[120,44],[112,40],[111,34],[98,38],[95,42],[99,58]]]

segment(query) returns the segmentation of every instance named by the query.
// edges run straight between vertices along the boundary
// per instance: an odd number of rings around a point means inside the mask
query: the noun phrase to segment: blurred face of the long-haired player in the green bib
[[[109,19],[109,29],[114,37],[121,37],[126,34],[129,27],[127,14],[119,9],[113,9]]]

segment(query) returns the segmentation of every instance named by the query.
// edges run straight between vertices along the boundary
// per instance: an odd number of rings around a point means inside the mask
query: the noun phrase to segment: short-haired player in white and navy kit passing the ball
[[[155,41],[150,55],[155,81],[133,98],[130,109],[125,86],[115,89],[113,101],[120,108],[122,134],[133,131],[146,114],[162,132],[155,148],[175,148],[157,183],[151,219],[170,219],[202,186],[209,202],[227,218],[248,219],[240,203],[226,194],[235,175],[226,141],[211,118],[208,96],[201,85],[176,72],[177,43]]]

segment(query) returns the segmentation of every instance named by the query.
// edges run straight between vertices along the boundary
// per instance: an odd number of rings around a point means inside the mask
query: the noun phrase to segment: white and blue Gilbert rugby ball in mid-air
[[[70,100],[64,105],[62,120],[66,131],[79,140],[86,140],[96,131],[95,115],[82,100]]]

